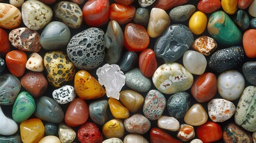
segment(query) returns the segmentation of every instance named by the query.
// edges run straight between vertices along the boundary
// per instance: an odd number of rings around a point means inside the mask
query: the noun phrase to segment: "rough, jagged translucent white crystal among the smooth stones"
[[[97,69],[98,82],[106,88],[107,97],[119,100],[119,92],[125,85],[125,75],[117,64],[105,64]]]

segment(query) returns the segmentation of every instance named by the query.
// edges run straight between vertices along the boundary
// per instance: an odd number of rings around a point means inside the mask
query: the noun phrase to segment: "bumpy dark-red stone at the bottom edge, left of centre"
[[[78,129],[78,140],[81,143],[101,143],[103,141],[103,135],[98,130],[98,126],[91,122],[85,122]]]

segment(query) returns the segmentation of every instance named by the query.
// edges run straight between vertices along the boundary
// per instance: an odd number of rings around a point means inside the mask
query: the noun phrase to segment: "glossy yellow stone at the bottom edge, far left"
[[[44,137],[44,124],[38,118],[22,122],[20,136],[24,143],[38,143]]]

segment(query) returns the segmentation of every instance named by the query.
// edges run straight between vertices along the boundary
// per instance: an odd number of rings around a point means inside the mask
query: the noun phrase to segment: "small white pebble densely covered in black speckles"
[[[67,104],[76,98],[75,89],[73,86],[64,85],[61,88],[55,89],[53,91],[53,99],[58,104]]]

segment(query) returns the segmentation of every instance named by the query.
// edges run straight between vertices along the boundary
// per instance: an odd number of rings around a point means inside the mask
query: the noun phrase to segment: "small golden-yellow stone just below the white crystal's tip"
[[[109,98],[109,108],[112,115],[118,119],[127,119],[129,117],[129,110],[125,108],[121,102],[115,98]]]

